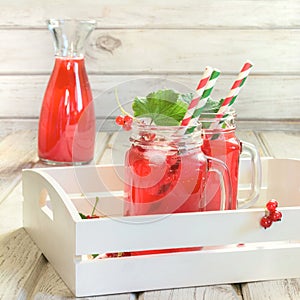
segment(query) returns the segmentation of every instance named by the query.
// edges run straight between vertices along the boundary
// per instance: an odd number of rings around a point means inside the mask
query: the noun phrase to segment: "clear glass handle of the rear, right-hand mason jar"
[[[262,180],[261,160],[257,148],[248,142],[241,143],[242,153],[248,153],[251,160],[251,191],[248,197],[237,200],[239,209],[251,207],[258,200]]]

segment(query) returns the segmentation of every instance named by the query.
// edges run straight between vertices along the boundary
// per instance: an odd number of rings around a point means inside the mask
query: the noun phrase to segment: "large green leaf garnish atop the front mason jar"
[[[136,97],[132,109],[135,117],[150,118],[155,125],[176,126],[187,111],[188,99],[189,96],[173,90],[158,90],[146,97]]]

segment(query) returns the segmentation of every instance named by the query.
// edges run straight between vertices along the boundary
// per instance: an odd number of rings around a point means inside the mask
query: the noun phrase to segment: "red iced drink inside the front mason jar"
[[[207,162],[201,151],[145,150],[132,146],[125,159],[125,215],[199,211]],[[200,247],[134,251],[131,255],[200,250]]]

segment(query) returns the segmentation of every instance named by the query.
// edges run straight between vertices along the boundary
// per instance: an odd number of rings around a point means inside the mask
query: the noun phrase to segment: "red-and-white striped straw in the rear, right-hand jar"
[[[218,117],[222,117],[224,115],[224,113],[228,110],[228,108],[234,103],[234,101],[237,98],[240,90],[242,89],[252,67],[253,67],[253,64],[250,61],[245,62],[237,79],[233,83],[227,97],[224,99],[224,101],[218,111]]]

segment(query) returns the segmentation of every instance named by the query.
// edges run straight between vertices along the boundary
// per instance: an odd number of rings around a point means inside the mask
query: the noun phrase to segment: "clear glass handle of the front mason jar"
[[[209,167],[208,173],[215,172],[219,176],[220,189],[221,189],[221,201],[220,201],[219,210],[231,209],[232,184],[231,184],[229,169],[222,160],[207,155],[205,155],[205,157],[208,161],[208,165],[210,165],[211,162],[214,162],[216,163],[216,166],[218,166],[218,168]],[[205,186],[205,188],[207,188],[207,186]]]

